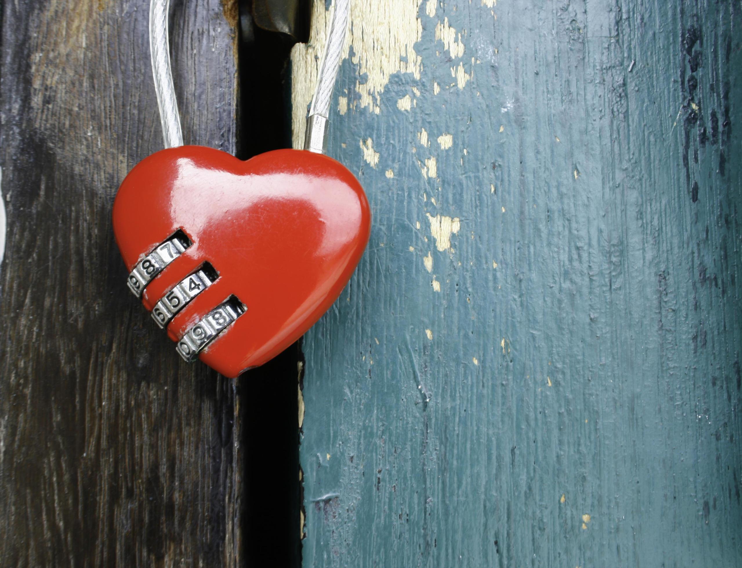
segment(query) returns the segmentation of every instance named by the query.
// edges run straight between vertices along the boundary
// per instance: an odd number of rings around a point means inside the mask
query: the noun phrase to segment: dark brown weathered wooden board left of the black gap
[[[119,183],[162,148],[148,4],[1,5],[4,566],[240,561],[240,395],[180,361],[111,231]],[[173,4],[185,141],[234,152],[236,4]]]

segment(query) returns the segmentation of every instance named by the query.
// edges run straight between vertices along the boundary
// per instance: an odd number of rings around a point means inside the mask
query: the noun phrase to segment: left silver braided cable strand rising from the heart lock
[[[170,0],[151,0],[149,4],[149,49],[154,91],[157,93],[157,106],[160,108],[162,138],[165,148],[174,148],[183,145],[183,131],[180,129],[178,102],[175,98],[173,73],[170,68],[169,10]]]

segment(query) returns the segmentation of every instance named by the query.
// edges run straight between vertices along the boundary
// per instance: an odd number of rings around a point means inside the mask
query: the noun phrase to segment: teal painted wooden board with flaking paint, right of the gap
[[[742,564],[741,25],[353,4],[328,153],[374,227],[303,343],[306,567]]]

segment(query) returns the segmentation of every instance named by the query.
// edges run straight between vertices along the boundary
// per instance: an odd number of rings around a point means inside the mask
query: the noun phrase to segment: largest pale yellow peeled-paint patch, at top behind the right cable
[[[394,73],[411,73],[420,79],[421,58],[415,53],[415,43],[422,36],[418,13],[422,0],[352,0],[349,33],[343,47],[347,59],[350,47],[357,66],[355,96],[349,96],[348,108],[356,106],[379,113],[381,93]],[[432,6],[432,8],[430,8]],[[436,3],[426,6],[435,10]],[[306,110],[312,100],[318,67],[326,41],[326,29],[332,16],[324,2],[313,2],[312,28],[309,43],[296,44],[291,51],[292,63],[292,127],[295,148],[301,148],[306,128]],[[363,83],[361,83],[363,77]],[[339,80],[343,81],[340,76]],[[345,79],[348,82],[348,79]],[[341,85],[349,88],[350,85]]]

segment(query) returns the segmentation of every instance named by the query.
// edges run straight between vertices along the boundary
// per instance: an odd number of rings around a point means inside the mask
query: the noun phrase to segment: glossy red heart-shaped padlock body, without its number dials
[[[171,339],[231,294],[247,306],[200,354],[228,377],[266,363],[324,314],[361,259],[371,221],[361,185],[328,156],[278,150],[243,162],[201,146],[139,162],[113,216],[129,271],[178,229],[193,242],[145,288],[148,310],[204,261],[219,272],[168,325]]]

